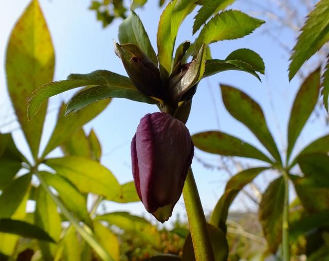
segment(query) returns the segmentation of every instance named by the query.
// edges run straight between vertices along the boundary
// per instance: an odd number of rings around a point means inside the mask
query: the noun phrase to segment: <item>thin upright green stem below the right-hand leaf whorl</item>
[[[282,172],[284,179],[284,201],[282,216],[282,252],[283,260],[290,260],[289,246],[289,176],[286,170]]]

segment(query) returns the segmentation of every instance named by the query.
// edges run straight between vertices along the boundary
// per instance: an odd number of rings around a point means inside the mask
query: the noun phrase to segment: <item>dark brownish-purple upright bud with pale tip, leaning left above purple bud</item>
[[[162,82],[157,65],[135,44],[115,43],[115,51],[137,90],[161,98]]]

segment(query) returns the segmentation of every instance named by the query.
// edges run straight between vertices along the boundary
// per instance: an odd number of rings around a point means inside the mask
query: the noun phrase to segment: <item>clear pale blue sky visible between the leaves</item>
[[[17,128],[17,123],[14,122],[13,110],[6,91],[4,61],[10,30],[28,2],[28,0],[15,1],[13,5],[10,0],[2,0],[0,7],[0,130],[2,132],[13,131],[16,145],[25,153],[27,153],[26,144],[20,129]],[[126,1],[126,3],[128,2]],[[298,5],[299,1],[296,0],[295,2]],[[157,3],[158,1],[150,0],[144,8],[136,10],[154,48],[156,48],[157,23],[162,11],[158,8]],[[70,73],[89,73],[96,69],[107,69],[126,75],[121,61],[114,54],[113,48],[113,39],[118,39],[119,19],[103,29],[101,23],[96,21],[96,14],[88,10],[89,0],[40,0],[40,4],[56,52],[54,80],[63,80]],[[259,12],[259,4],[264,4],[264,1],[237,1],[232,8],[240,9],[264,19],[263,14]],[[267,8],[273,12],[278,11],[271,9],[273,7],[270,4],[267,5]],[[305,10],[301,9],[300,11],[306,14]],[[189,15],[188,19],[182,24],[176,43],[179,44],[182,41],[193,39],[191,26],[194,16],[195,12]],[[267,20],[267,23],[257,29],[251,36],[211,45],[212,56],[217,59],[224,59],[231,51],[238,48],[255,50],[264,59],[266,72],[265,76],[261,76],[262,82],[242,72],[225,72],[208,78],[209,80],[203,80],[194,96],[191,115],[187,123],[191,134],[220,129],[238,136],[264,151],[255,137],[225,110],[219,90],[219,83],[225,83],[243,90],[261,104],[269,128],[275,136],[280,150],[284,151],[288,115],[300,79],[295,77],[293,81],[288,82],[289,56],[279,43],[284,42],[291,49],[297,35],[288,29],[279,30],[275,23],[268,21],[267,18],[265,20]],[[268,31],[271,33],[271,37],[266,33]],[[60,101],[67,100],[71,93],[61,94],[50,99],[42,146],[45,146],[54,126]],[[120,183],[132,180],[130,142],[139,119],[144,114],[155,111],[157,111],[156,106],[125,99],[113,99],[103,113],[85,126],[86,130],[95,129],[102,143],[102,164],[112,170]],[[13,123],[7,124],[12,120]],[[6,126],[4,127],[4,125]],[[316,119],[303,131],[297,143],[297,150],[324,133],[323,122]],[[52,155],[58,156],[59,153],[59,150],[55,150]],[[195,154],[198,158],[206,159],[207,162],[215,165],[220,164],[218,157],[215,155],[203,153],[199,150],[196,150]],[[257,163],[252,162],[252,164]],[[209,213],[222,195],[228,175],[225,171],[206,169],[195,159],[192,166],[205,212]],[[260,177],[257,180],[258,184],[263,187],[264,180],[271,179],[272,175],[273,173],[268,173],[266,179]],[[251,206],[243,197],[239,197],[234,202],[233,208],[235,210],[244,209],[246,205]],[[107,211],[126,210],[138,215],[145,214],[141,203],[108,203],[106,207]],[[182,199],[175,207],[174,215],[177,213],[182,216],[185,215]]]

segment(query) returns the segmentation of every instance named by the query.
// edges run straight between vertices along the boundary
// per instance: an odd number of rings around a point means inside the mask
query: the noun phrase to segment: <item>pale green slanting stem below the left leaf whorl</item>
[[[60,208],[63,215],[67,218],[68,221],[70,221],[70,223],[75,227],[75,229],[83,237],[83,239],[86,240],[89,246],[92,247],[95,250],[95,252],[99,255],[99,257],[102,258],[104,261],[113,261],[112,257],[109,256],[108,253],[99,244],[99,242],[97,242],[97,240],[93,235],[93,232],[90,229],[86,229],[86,226],[84,226],[84,228],[81,227],[79,221],[74,216],[72,216],[72,214],[67,210],[67,208],[64,206],[62,201],[60,201],[60,199],[51,192],[44,179],[40,175],[38,175],[38,171],[34,171],[34,174],[38,177],[38,179],[41,182],[41,185],[44,187],[44,189],[52,198],[52,200]]]

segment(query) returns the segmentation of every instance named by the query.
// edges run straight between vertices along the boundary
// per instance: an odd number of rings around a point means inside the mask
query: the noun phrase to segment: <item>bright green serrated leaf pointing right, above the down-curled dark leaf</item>
[[[240,11],[224,11],[215,15],[202,28],[195,41],[195,50],[198,50],[203,43],[208,45],[217,41],[242,38],[263,23],[265,23],[263,20],[252,18]]]

